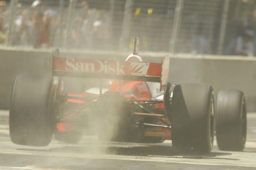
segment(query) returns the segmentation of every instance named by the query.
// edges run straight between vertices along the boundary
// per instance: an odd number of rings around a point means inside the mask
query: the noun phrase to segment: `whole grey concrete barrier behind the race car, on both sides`
[[[21,73],[51,75],[54,49],[0,47],[0,109],[9,109],[12,84]],[[124,60],[130,53],[60,50],[61,56]],[[145,61],[161,62],[167,53],[141,53]],[[73,92],[84,88],[83,79],[65,79],[65,87]],[[225,89],[242,90],[247,110],[256,108],[256,58],[213,55],[171,55],[169,82],[207,83],[213,86],[215,95]],[[97,81],[93,82],[97,84]],[[94,84],[90,83],[91,86]],[[88,83],[87,83],[88,85]],[[191,96],[193,98],[193,96]]]

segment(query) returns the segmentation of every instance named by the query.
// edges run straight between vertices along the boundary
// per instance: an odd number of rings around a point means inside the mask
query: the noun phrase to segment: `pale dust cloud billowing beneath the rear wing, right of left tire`
[[[83,95],[84,93],[92,93],[87,97],[94,98],[95,95],[100,93],[100,83],[101,80],[97,78],[70,78],[63,77],[64,82],[64,92],[63,94],[78,94]],[[73,123],[74,127],[79,131],[82,129],[82,135],[80,139],[74,139],[74,133],[72,135],[66,135],[65,137],[70,137],[70,139],[62,140],[56,134],[54,134],[53,141],[66,143],[66,146],[61,148],[61,151],[70,151],[85,153],[90,155],[102,155],[109,151],[109,145],[115,142],[123,142],[123,131],[120,131],[120,127],[123,125],[122,112],[119,109],[120,106],[120,95],[118,92],[114,93],[104,93],[109,89],[111,85],[111,80],[103,80],[102,84],[102,97],[98,100],[89,100],[90,104],[85,104],[85,107],[78,109],[81,105],[70,105],[69,108],[65,108],[68,111],[74,111],[75,109],[84,110],[84,115],[82,114],[81,120],[84,121],[84,126],[77,126]],[[94,93],[94,94],[93,94]],[[78,123],[79,124],[79,123]],[[122,128],[121,128],[122,129]],[[123,130],[123,129],[122,129]],[[52,141],[52,142],[53,142]],[[74,144],[70,144],[75,141]]]

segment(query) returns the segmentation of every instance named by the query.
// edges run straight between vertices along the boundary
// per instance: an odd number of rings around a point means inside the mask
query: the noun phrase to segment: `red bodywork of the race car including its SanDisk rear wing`
[[[163,99],[153,99],[149,86],[146,83],[158,82],[161,91],[167,82],[167,72],[169,72],[169,56],[163,60],[163,63],[148,63],[148,62],[130,62],[130,61],[103,61],[91,59],[72,59],[60,58],[53,59],[53,75],[69,76],[69,77],[84,77],[92,78],[97,75],[100,79],[109,78],[116,79],[110,85],[109,89],[102,94],[82,93],[82,94],[67,94],[65,106],[69,109],[64,109],[59,117],[57,129],[59,132],[83,132],[87,124],[81,121],[84,115],[94,115],[92,109],[84,109],[87,104],[86,100],[79,100],[81,98],[92,98],[88,103],[98,101],[102,96],[107,94],[118,93],[124,100],[136,100],[137,103],[146,103],[147,101],[163,101]],[[89,73],[89,74],[88,74]],[[88,76],[89,75],[89,76]],[[113,77],[114,75],[114,77]],[[96,76],[96,77],[97,77]],[[122,81],[119,83],[120,79]],[[143,81],[138,81],[142,79]],[[160,84],[161,83],[161,84]],[[122,87],[120,87],[120,85]],[[119,91],[122,89],[122,93]],[[74,98],[73,98],[74,97]],[[141,101],[140,101],[141,100]],[[128,102],[131,116],[145,118],[150,117],[150,123],[166,125],[169,124],[169,119],[164,112],[163,102],[157,102],[153,105],[153,112],[140,112],[133,109],[133,102]],[[71,106],[71,107],[70,107]],[[70,109],[71,108],[71,109]],[[85,116],[88,118],[87,116]],[[93,116],[92,116],[93,117]],[[89,120],[92,119],[89,116]],[[161,121],[163,120],[163,121]],[[94,121],[90,120],[91,123]],[[165,122],[165,124],[163,123]],[[161,137],[164,139],[171,139],[171,131],[163,127],[147,127],[145,136]]]

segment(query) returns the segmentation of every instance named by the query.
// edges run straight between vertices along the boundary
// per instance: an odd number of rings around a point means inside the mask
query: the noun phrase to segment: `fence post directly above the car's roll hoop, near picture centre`
[[[127,48],[128,45],[125,45],[129,42],[129,35],[131,30],[131,23],[132,23],[132,7],[133,7],[134,0],[126,0],[125,10],[124,10],[124,21],[123,21],[123,28],[122,33],[119,39],[119,50],[124,50]]]

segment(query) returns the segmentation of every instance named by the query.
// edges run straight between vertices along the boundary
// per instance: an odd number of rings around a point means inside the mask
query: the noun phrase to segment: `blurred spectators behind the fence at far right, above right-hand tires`
[[[256,10],[246,17],[243,21],[237,21],[234,27],[233,37],[227,37],[227,44],[223,46],[223,55],[238,55],[238,56],[256,56]],[[230,31],[226,30],[226,33]],[[211,54],[210,41],[203,34],[202,26],[199,25],[197,34],[192,37],[191,53],[193,54]]]

